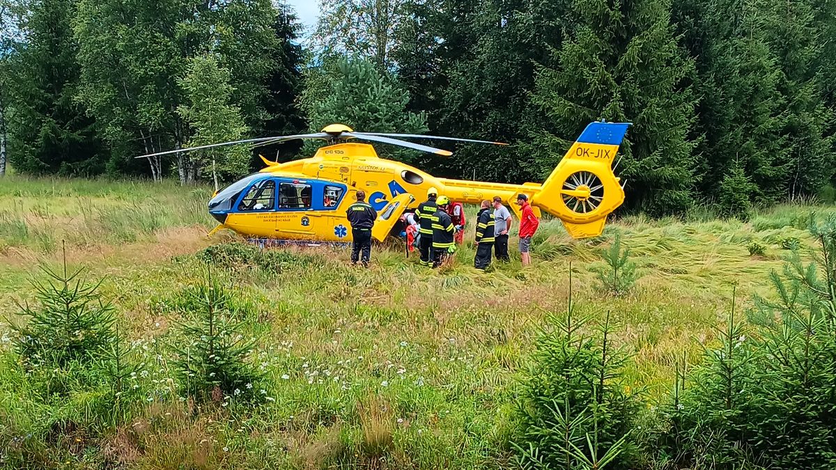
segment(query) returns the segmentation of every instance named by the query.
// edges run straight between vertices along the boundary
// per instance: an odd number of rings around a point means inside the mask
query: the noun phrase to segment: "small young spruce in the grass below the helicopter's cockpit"
[[[220,402],[230,396],[237,400],[257,399],[260,375],[247,361],[254,340],[244,337],[244,322],[228,309],[234,294],[208,276],[206,289],[191,295],[189,304],[197,311],[185,312],[191,319],[181,324],[185,345],[174,345],[176,369],[186,393],[196,400]]]

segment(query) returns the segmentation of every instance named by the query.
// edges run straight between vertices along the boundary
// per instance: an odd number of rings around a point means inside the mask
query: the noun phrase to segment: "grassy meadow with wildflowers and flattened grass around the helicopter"
[[[576,309],[609,314],[611,340],[632,355],[629,387],[651,408],[670,401],[683,357],[695,364],[703,345],[718,344],[732,290],[740,311],[756,294],[774,296],[768,277],[787,248],[814,245],[810,214],[836,212],[620,217],[591,241],[544,220],[532,266],[517,253],[486,273],[472,268],[470,243],[441,272],[395,243],[375,246],[368,270],[351,268],[344,248],[287,248],[270,269],[216,265],[259,380],[242,391],[251,399],[196,402],[172,351],[186,342],[187,294],[206,281],[196,255],[234,239],[206,238],[210,195],[171,182],[0,179],[0,467],[512,467],[519,379],[548,314],[567,309],[570,265]],[[640,274],[620,297],[595,274],[616,233]],[[46,279],[38,267],[60,269],[64,253],[101,281],[135,364],[119,406],[106,381],[28,369],[13,348],[10,324],[25,321],[30,283]]]

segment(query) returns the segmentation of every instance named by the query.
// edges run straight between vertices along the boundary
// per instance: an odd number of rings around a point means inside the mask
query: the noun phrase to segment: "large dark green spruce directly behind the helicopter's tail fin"
[[[625,204],[651,215],[691,205],[694,99],[670,27],[670,4],[624,6],[574,0],[568,36],[538,67],[531,107],[539,116],[527,146],[548,175],[591,120],[632,122],[621,146]]]

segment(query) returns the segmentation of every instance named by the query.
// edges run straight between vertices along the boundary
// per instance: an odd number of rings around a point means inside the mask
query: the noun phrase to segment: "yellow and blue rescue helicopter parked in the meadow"
[[[378,211],[372,237],[382,242],[393,232],[400,215],[421,202],[431,187],[451,201],[478,204],[501,197],[520,216],[512,204],[517,195],[528,196],[535,215],[540,210],[558,217],[573,238],[600,235],[610,212],[624,202],[624,186],[614,175],[612,163],[629,123],[594,121],[586,126],[543,184],[522,185],[461,181],[436,178],[415,167],[380,158],[370,144],[347,140],[370,140],[405,146],[441,156],[450,151],[423,146],[404,138],[458,140],[507,145],[485,140],[458,139],[432,135],[355,132],[334,124],[321,132],[282,137],[235,140],[165,151],[142,157],[196,151],[215,146],[249,144],[264,146],[294,139],[326,140],[310,158],[278,163],[261,157],[267,165],[217,192],[208,204],[209,213],[219,225],[209,233],[229,228],[247,238],[295,241],[351,241],[346,209],[363,190]]]

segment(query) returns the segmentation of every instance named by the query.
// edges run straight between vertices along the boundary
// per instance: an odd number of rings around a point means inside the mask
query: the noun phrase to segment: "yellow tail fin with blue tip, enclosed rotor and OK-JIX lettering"
[[[563,221],[573,238],[597,237],[624,202],[612,164],[630,123],[592,122],[533,195],[532,205]]]

